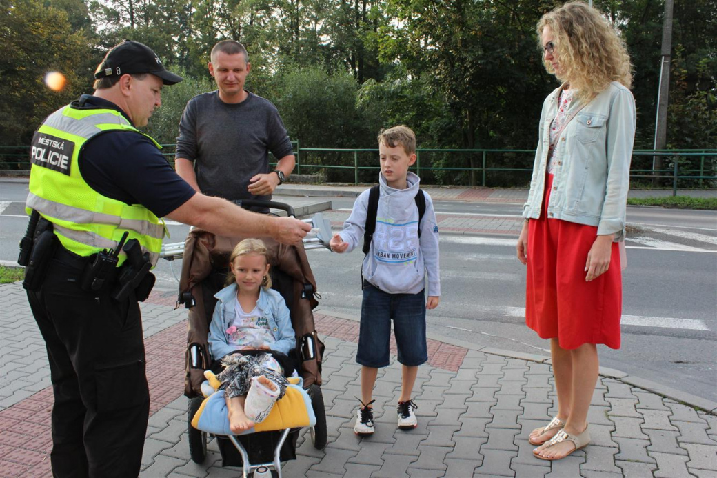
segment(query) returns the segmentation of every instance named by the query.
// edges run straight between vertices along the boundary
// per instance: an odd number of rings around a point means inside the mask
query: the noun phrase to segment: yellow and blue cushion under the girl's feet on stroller
[[[204,372],[208,385],[216,391],[219,387],[219,380],[212,372]],[[252,434],[257,431],[275,431],[285,428],[300,428],[302,426],[314,426],[316,417],[311,407],[311,399],[306,390],[301,386],[303,380],[298,377],[288,378],[289,385],[284,396],[277,400],[271,413],[254,428],[244,431],[242,435]],[[206,390],[206,387],[202,388]],[[229,415],[227,400],[224,393],[212,393],[204,398],[194,417],[191,419],[191,426],[215,435],[233,435],[229,429]]]

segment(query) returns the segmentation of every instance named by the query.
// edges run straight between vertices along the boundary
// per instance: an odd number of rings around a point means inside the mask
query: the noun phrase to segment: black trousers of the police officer
[[[54,389],[52,473],[137,477],[149,416],[139,306],[134,294],[120,304],[82,291],[82,266],[58,254],[27,294]]]

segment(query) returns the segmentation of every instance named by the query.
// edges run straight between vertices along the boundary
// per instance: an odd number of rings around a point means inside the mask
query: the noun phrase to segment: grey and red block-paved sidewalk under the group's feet
[[[186,324],[174,294],[142,305],[151,418],[141,477],[236,477],[222,468],[217,445],[204,464],[189,459],[183,393]],[[42,338],[22,286],[0,286],[0,477],[49,477],[52,389]],[[431,337],[414,400],[418,428],[397,431],[400,367],[376,383],[376,434],[353,434],[359,323],[315,314],[326,343],[322,385],[328,446],[313,448],[303,431],[298,459],[285,477],[717,477],[717,404],[706,413],[621,380],[604,370],[589,413],[592,444],[561,461],[531,454],[527,436],[555,413],[547,357],[473,347]],[[392,355],[395,360],[395,355]]]

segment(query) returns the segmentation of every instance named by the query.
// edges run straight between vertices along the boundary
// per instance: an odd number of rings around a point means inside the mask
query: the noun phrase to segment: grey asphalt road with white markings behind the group
[[[0,181],[0,259],[15,261],[27,219],[27,184]],[[332,200],[350,209],[353,199]],[[290,198],[286,198],[290,202]],[[441,212],[518,215],[520,206],[447,202]],[[717,401],[717,213],[629,207],[622,347],[600,347],[601,365]],[[169,227],[186,236],[184,225]],[[312,250],[309,259],[323,299],[320,308],[359,316],[362,255]],[[158,288],[176,288],[181,262],[160,261]],[[549,346],[523,324],[525,270],[515,238],[442,235],[442,297],[429,311],[429,331],[520,352]]]

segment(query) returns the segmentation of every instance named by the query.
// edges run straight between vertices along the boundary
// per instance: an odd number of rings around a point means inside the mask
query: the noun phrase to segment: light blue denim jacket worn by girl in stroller
[[[214,307],[212,324],[209,324],[209,352],[214,360],[219,360],[228,353],[237,350],[229,345],[227,329],[232,326],[237,317],[237,284],[224,287],[214,294],[217,306]],[[259,301],[257,301],[262,317],[267,319],[272,335],[276,342],[271,344],[271,349],[283,354],[288,354],[296,345],[294,329],[291,327],[291,317],[284,298],[273,289],[260,287]]]

